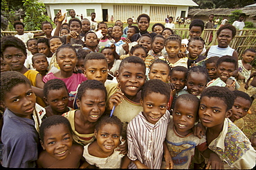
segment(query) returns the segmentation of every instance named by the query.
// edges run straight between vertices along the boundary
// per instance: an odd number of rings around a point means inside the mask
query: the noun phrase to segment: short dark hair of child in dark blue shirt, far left
[[[24,76],[20,72],[15,72],[15,71],[1,72],[1,83],[0,83],[1,101],[6,100],[6,94],[9,93],[13,87],[19,84],[26,84],[31,86],[28,78],[26,78],[26,76]]]

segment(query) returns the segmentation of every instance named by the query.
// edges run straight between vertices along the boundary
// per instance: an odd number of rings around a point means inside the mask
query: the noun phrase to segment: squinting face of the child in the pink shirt
[[[60,70],[73,72],[73,68],[77,63],[77,56],[71,48],[62,48],[62,50],[57,53],[56,59]]]

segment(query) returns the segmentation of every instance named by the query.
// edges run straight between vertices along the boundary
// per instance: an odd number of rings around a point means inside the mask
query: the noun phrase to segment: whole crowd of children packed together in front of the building
[[[1,38],[3,167],[255,168],[256,131],[249,140],[242,130],[256,51],[238,60],[234,26],[221,26],[206,50],[212,14],[190,23],[190,39],[174,34],[173,17],[149,32],[147,14],[126,28],[69,14],[37,34],[15,21],[17,35]]]

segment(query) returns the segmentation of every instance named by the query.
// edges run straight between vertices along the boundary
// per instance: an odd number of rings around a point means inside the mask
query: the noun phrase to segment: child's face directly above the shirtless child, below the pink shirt
[[[68,91],[65,88],[51,89],[44,100],[50,105],[53,113],[64,114],[68,106]]]

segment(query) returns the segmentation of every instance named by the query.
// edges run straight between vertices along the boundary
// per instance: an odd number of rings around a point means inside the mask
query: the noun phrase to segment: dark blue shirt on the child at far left
[[[35,168],[38,156],[39,135],[35,122],[21,118],[9,109],[3,114],[3,167]]]

